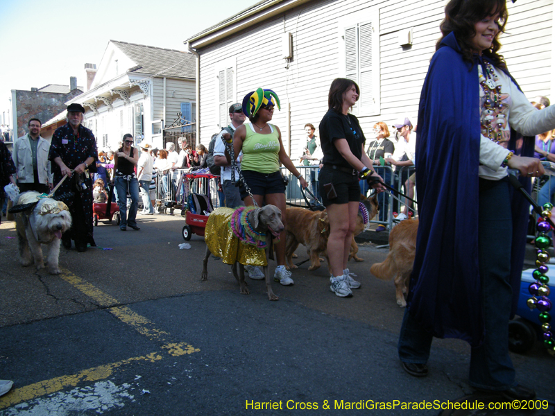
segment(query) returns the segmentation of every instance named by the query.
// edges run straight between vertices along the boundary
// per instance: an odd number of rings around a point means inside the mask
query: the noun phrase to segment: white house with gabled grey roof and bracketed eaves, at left
[[[161,148],[178,113],[196,119],[195,79],[191,53],[110,40],[87,92],[67,104],[85,107],[99,150],[115,149],[126,133]]]

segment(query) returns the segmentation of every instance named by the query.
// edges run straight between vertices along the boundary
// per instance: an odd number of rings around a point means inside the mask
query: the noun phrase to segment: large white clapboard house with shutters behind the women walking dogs
[[[332,80],[356,80],[354,109],[366,134],[377,121],[408,115],[418,99],[441,33],[446,0],[264,0],[189,38],[198,54],[200,141],[227,125],[230,103],[257,87],[282,102],[273,121],[296,159],[305,123],[327,111]],[[524,93],[552,96],[553,0],[507,1],[502,53]]]

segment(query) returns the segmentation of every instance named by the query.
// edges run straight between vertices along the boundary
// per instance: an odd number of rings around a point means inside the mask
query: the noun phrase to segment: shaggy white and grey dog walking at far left
[[[44,268],[42,246],[49,246],[46,263],[51,275],[59,275],[58,256],[60,254],[60,239],[62,233],[71,227],[71,214],[63,202],[52,198],[38,198],[41,194],[35,191],[22,193],[17,205],[31,205],[15,215],[17,237],[19,239],[19,255],[23,266],[29,266],[33,261],[37,270]],[[14,207],[15,208],[15,207]]]

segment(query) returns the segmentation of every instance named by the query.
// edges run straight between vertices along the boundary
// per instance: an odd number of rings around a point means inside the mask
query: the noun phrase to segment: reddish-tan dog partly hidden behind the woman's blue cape
[[[409,288],[417,231],[418,220],[404,220],[395,225],[389,234],[389,254],[382,263],[375,263],[370,267],[370,272],[378,279],[395,278],[395,297],[402,308],[407,306],[403,294]]]

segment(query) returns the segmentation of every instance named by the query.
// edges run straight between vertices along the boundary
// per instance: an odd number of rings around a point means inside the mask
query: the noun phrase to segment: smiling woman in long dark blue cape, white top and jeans
[[[507,167],[527,187],[543,174],[533,135],[555,127],[555,107],[536,110],[497,53],[506,20],[505,0],[445,6],[418,108],[420,222],[398,352],[406,372],[426,376],[434,336],[466,340],[472,388],[519,400],[536,397],[509,356],[529,204],[511,196]]]

